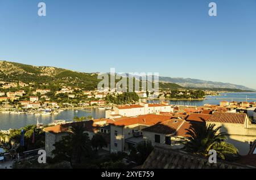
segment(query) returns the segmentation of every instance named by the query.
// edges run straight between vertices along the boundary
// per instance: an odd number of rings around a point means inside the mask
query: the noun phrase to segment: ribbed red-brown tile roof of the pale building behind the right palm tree
[[[206,121],[208,121],[208,122],[222,122],[222,123],[238,123],[238,124],[243,124],[243,123],[245,123],[246,117],[247,117],[247,115],[245,113],[222,113],[222,112],[215,112]]]

